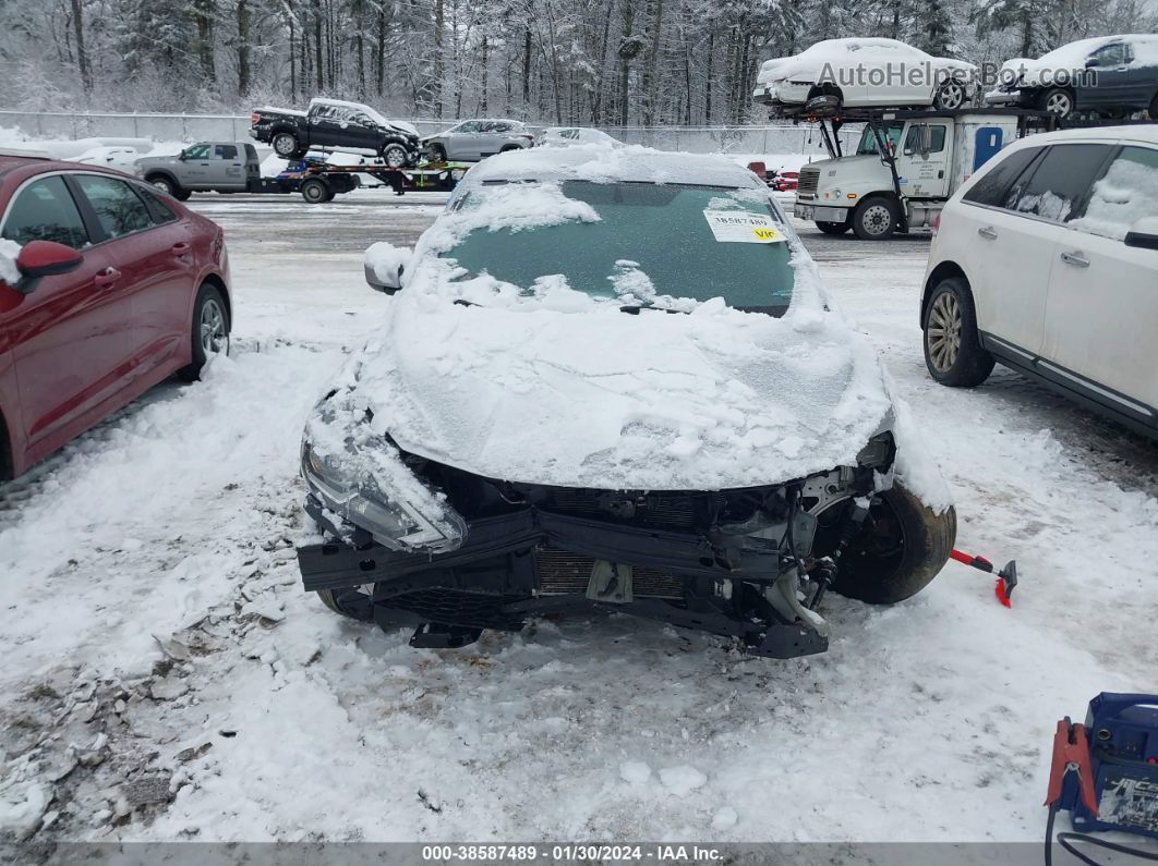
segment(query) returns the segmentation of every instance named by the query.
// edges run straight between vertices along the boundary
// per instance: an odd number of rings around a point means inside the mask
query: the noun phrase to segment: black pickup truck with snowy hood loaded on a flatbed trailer
[[[257,109],[249,118],[249,134],[286,160],[300,160],[310,148],[369,151],[391,169],[402,169],[422,155],[413,126],[342,99],[312,99],[309,111]]]

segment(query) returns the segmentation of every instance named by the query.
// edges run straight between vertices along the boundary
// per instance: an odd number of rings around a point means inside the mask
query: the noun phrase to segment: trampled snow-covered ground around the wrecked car
[[[749,658],[626,616],[412,650],[300,589],[302,422],[389,301],[373,240],[445,197],[195,197],[235,347],[0,490],[0,826],[37,839],[1033,841],[1056,720],[1158,690],[1158,457],[998,370],[925,373],[928,243],[801,225],[952,483],[916,598],[829,595],[827,654]]]

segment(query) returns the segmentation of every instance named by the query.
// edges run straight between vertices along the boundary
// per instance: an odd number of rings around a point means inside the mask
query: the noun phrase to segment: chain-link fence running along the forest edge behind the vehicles
[[[454,120],[410,120],[422,135],[448,128]],[[535,126],[548,126],[541,124]],[[16,127],[34,139],[134,138],[156,141],[248,141],[249,114],[152,114],[117,112],[0,110],[0,127]],[[603,132],[629,145],[660,150],[733,154],[818,154],[823,142],[814,126],[607,126]],[[855,143],[859,131],[843,131]]]

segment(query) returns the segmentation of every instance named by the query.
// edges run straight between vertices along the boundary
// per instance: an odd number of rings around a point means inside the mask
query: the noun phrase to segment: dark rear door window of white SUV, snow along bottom
[[[1111,145],[1054,145],[1028,178],[1019,178],[1010,188],[1005,207],[1055,222],[1080,216],[1086,193],[1112,149]]]

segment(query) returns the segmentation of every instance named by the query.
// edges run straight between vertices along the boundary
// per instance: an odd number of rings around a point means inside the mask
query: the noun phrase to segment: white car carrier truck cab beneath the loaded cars
[[[826,234],[852,229],[864,240],[931,227],[987,160],[1048,123],[1038,112],[977,109],[848,111],[809,120],[821,125],[831,158],[800,169],[793,213]],[[864,132],[845,155],[837,133],[853,123]]]

